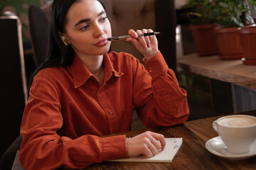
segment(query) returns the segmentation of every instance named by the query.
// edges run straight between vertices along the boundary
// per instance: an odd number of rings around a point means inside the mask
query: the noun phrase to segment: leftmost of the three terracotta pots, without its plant
[[[218,54],[217,37],[213,29],[218,24],[190,25],[193,40],[196,45],[196,52],[199,56],[209,56]]]

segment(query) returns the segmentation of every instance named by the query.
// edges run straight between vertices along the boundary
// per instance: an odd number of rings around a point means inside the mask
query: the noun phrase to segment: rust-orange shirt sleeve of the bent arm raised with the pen
[[[145,67],[134,62],[133,70],[134,106],[142,123],[147,128],[184,123],[189,114],[187,94],[161,52],[144,62]]]

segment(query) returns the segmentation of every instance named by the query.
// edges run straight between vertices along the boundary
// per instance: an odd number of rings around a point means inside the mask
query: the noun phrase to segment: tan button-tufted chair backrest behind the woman
[[[127,35],[130,28],[139,30],[151,28],[156,30],[155,0],[103,0],[105,10],[112,27],[112,35]],[[141,62],[142,54],[125,40],[113,41],[111,50],[115,52],[129,52]]]

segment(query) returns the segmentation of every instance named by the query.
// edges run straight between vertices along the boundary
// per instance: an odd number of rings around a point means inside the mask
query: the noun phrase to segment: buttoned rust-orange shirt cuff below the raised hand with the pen
[[[151,57],[149,61],[146,61],[144,58],[143,62],[145,63],[145,68],[151,75],[152,79],[157,79],[169,68],[160,51],[156,52],[156,55]]]

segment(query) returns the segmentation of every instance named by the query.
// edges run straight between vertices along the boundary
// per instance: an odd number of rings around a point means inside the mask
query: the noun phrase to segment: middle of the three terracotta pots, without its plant
[[[237,27],[214,29],[217,33],[219,57],[223,60],[237,60],[243,57],[242,45]]]

